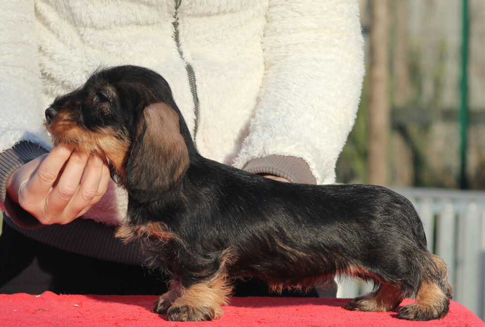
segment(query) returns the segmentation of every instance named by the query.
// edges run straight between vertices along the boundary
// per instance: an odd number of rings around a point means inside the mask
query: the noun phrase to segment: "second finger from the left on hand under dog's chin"
[[[79,151],[72,152],[59,178],[59,182],[47,196],[43,210],[44,217],[48,219],[49,217],[55,217],[56,221],[53,222],[60,222],[65,219],[62,213],[79,188],[81,176],[88,158],[89,154],[87,153]],[[44,221],[41,222],[45,223]]]

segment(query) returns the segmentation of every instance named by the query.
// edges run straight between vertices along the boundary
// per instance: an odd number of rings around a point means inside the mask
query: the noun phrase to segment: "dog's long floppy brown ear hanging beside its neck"
[[[147,106],[136,128],[126,184],[131,196],[148,201],[177,183],[189,165],[189,155],[178,114],[169,105]]]

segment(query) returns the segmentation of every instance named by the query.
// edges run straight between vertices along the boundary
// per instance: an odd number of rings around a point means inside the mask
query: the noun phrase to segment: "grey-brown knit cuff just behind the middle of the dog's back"
[[[249,160],[242,168],[252,173],[267,173],[288,179],[292,183],[316,184],[317,179],[302,158],[265,156]]]

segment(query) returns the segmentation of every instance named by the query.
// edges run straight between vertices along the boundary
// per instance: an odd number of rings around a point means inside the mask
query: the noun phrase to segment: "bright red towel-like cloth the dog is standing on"
[[[156,298],[0,294],[0,326],[485,326],[456,302],[442,320],[411,322],[396,318],[396,312],[346,311],[347,299],[276,297],[232,297],[219,320],[178,323],[151,312]]]

